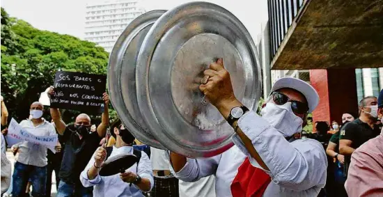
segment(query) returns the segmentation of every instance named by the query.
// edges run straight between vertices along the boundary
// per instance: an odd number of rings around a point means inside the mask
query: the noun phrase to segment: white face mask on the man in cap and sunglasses
[[[292,112],[291,102],[287,102],[283,105],[268,102],[266,106],[260,110],[260,115],[285,137],[292,136],[297,132],[302,132],[303,120],[295,116]]]

